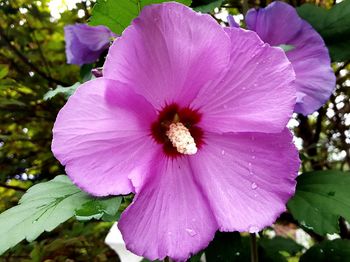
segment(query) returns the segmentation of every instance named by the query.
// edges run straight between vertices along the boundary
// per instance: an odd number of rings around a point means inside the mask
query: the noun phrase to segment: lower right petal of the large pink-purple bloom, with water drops
[[[298,151],[279,134],[207,134],[190,159],[221,231],[257,232],[271,225],[294,194]]]

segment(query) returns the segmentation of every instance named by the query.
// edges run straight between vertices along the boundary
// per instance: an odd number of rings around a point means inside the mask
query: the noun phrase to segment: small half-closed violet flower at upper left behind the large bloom
[[[83,65],[95,62],[107,50],[116,35],[105,26],[86,24],[68,25],[64,28],[68,64]]]

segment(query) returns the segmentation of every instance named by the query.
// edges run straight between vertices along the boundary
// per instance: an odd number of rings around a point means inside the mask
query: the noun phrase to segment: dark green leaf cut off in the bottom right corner
[[[300,262],[346,262],[350,260],[350,240],[336,239],[314,245],[300,257]]]

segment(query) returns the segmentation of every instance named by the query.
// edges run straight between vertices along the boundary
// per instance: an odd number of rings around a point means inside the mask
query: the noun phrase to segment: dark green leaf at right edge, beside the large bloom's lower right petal
[[[350,172],[316,171],[297,178],[288,208],[301,225],[318,234],[339,232],[340,216],[350,220]]]

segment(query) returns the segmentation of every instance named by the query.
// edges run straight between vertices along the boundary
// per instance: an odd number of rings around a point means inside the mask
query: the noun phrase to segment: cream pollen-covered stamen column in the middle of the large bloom
[[[196,142],[191,136],[190,131],[182,123],[172,123],[166,135],[177,152],[185,155],[194,155],[197,153]]]

